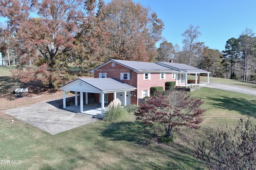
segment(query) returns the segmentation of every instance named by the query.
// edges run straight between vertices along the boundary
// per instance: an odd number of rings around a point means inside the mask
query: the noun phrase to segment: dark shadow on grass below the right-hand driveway
[[[206,97],[208,100],[216,101],[213,103],[215,107],[224,108],[228,110],[239,111],[243,115],[254,116],[256,110],[256,100],[248,100],[246,98],[231,98],[220,95],[219,98]]]

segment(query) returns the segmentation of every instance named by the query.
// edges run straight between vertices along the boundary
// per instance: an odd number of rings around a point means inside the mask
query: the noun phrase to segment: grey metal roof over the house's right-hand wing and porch
[[[160,61],[156,62],[156,64],[161,64],[162,66],[170,66],[174,70],[183,70],[183,71],[186,71],[186,72],[209,73],[206,70],[202,70],[200,68],[189,66],[187,64],[168,63],[168,62],[160,62]]]

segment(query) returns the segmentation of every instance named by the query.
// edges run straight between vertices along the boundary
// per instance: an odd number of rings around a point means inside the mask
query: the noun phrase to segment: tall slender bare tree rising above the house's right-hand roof
[[[199,35],[201,35],[201,32],[198,31],[198,28],[200,27],[196,26],[194,28],[193,25],[189,25],[188,29],[184,33],[182,33],[182,37],[184,37],[182,43],[189,49],[189,65],[191,64],[193,47],[197,43],[196,39],[198,39]]]

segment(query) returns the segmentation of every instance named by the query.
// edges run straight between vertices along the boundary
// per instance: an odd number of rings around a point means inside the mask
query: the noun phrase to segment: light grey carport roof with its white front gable
[[[84,83],[84,85],[79,84],[80,82]],[[79,84],[79,85],[76,85],[76,84]],[[136,90],[136,87],[126,84],[124,82],[121,82],[119,80],[116,80],[114,78],[78,78],[73,82],[70,82],[65,86],[62,86],[60,89],[84,91],[88,89],[86,88],[86,85],[90,86],[91,88],[94,88],[95,90],[99,90],[102,92]]]

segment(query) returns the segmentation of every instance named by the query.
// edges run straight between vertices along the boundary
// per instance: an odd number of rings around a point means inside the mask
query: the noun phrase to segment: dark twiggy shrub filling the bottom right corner
[[[195,145],[194,156],[208,169],[256,169],[256,126],[249,118],[240,118],[234,129],[218,129]]]

